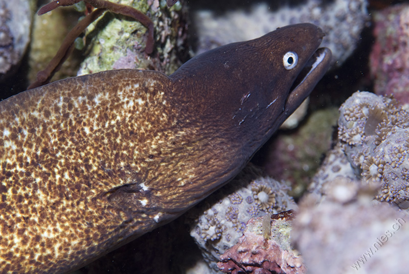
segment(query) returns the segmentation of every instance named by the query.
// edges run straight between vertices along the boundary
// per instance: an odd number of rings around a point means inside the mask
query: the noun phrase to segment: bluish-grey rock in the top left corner
[[[0,0],[0,81],[17,69],[30,42],[30,0]]]

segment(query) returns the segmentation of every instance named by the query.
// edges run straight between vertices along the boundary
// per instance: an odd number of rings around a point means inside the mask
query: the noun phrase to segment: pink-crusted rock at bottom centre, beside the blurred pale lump
[[[225,273],[306,273],[303,258],[291,248],[292,210],[252,218],[237,244],[220,256]]]

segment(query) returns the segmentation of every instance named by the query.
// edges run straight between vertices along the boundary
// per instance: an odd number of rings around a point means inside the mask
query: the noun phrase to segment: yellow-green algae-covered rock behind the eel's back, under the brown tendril
[[[147,14],[155,29],[154,52],[144,52],[146,28],[124,16],[106,13],[87,29],[90,44],[78,75],[112,69],[148,69],[173,73],[183,60],[185,50],[186,10],[183,4],[167,7],[163,0],[117,0]]]

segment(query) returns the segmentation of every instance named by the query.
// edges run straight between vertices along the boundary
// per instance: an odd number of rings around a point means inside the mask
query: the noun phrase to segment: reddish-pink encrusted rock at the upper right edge
[[[374,14],[374,36],[370,55],[374,91],[393,94],[409,104],[409,4],[391,6]],[[406,106],[406,107],[407,107]]]

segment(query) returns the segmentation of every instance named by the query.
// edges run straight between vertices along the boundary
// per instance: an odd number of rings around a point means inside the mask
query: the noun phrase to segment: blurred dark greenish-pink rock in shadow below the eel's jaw
[[[331,134],[338,119],[336,107],[320,109],[298,129],[282,132],[268,144],[266,172],[291,183],[292,197],[300,197],[331,147]]]

